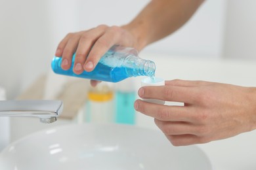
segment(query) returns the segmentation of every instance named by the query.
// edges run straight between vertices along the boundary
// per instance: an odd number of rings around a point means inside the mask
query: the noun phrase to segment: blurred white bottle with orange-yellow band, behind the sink
[[[88,92],[85,122],[114,123],[114,91],[110,83],[101,82]]]

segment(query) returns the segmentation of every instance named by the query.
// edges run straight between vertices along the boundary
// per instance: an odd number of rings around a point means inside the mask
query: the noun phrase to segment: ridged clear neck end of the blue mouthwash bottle
[[[129,76],[150,76],[151,78],[155,76],[156,65],[153,61],[130,55],[123,63]]]

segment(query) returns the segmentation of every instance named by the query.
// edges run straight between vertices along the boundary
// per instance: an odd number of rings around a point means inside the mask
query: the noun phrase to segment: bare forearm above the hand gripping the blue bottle
[[[136,47],[141,50],[179,29],[202,2],[203,0],[152,0],[132,22],[123,27],[137,39]]]

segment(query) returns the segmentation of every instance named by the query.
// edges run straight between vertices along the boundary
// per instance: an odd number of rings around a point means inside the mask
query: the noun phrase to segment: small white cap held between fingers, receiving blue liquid
[[[163,78],[155,77],[153,79],[153,78],[147,77],[141,80],[141,86],[163,86],[163,85],[165,85],[165,80],[163,80]],[[159,99],[143,99],[143,100],[146,102],[156,103],[159,105],[164,105],[165,103],[165,101],[159,100]]]

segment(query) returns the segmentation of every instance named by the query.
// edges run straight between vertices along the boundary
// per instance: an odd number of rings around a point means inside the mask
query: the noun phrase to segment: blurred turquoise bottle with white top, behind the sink
[[[126,79],[116,84],[116,123],[135,124],[135,109],[133,107],[137,92],[132,79]]]

